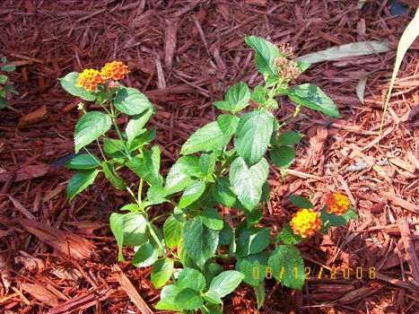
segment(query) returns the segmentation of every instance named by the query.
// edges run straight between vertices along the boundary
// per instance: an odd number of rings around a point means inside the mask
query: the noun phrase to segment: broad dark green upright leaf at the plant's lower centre
[[[218,246],[218,232],[207,228],[201,219],[185,222],[183,242],[188,256],[202,268],[205,261],[214,255]]]

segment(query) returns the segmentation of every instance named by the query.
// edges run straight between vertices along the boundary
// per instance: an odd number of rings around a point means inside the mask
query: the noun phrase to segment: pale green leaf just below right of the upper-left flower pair
[[[115,107],[129,116],[139,115],[147,109],[153,109],[153,105],[143,93],[135,88],[121,88],[114,100]]]

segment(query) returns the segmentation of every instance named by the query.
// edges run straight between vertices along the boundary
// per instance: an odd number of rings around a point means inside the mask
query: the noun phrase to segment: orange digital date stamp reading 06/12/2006
[[[279,273],[279,278],[282,279],[286,270],[284,267],[281,268]],[[299,276],[299,268],[294,267],[291,269],[292,275],[294,278],[298,278]],[[271,279],[275,274],[271,267],[253,267],[252,270],[253,278],[258,279],[260,276],[265,276],[266,279]],[[291,275],[291,274],[289,274]],[[342,269],[338,269],[336,267],[331,267],[326,272],[324,271],[323,267],[320,267],[319,270],[314,273],[311,271],[311,267],[304,267],[304,278],[306,280],[310,280],[310,278],[326,278],[329,279],[375,279],[375,267],[370,268],[350,268],[350,267],[343,267]]]

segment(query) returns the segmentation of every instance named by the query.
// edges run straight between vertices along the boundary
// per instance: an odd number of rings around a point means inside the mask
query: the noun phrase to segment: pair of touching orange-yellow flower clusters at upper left
[[[112,61],[103,66],[99,71],[85,69],[75,83],[76,87],[83,87],[86,91],[96,92],[98,84],[104,84],[105,80],[121,80],[127,74],[128,66],[121,61]]]

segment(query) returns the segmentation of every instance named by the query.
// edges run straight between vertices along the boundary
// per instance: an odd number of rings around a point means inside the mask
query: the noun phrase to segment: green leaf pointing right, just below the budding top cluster
[[[333,118],[340,118],[333,100],[313,84],[301,84],[290,90],[288,97],[303,107],[315,109]]]

